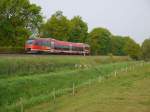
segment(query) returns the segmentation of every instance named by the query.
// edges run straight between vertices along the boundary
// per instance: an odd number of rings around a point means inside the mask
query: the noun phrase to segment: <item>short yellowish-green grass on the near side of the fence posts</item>
[[[119,72],[26,112],[150,112],[150,64]]]

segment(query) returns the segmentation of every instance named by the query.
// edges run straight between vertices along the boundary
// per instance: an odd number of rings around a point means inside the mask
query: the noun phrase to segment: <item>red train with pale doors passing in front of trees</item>
[[[59,41],[52,38],[29,39],[25,45],[26,53],[80,54],[89,55],[90,46],[84,43]]]

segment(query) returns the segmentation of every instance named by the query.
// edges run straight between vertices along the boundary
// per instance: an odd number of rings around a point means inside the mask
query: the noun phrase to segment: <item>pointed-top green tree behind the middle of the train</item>
[[[57,11],[43,25],[43,37],[52,37],[59,40],[68,40],[70,25],[67,17],[63,16],[62,11]]]

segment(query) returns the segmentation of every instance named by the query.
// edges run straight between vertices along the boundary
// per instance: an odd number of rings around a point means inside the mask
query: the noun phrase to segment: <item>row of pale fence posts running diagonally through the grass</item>
[[[149,62],[137,62],[134,65],[130,65],[128,67],[125,68],[121,68],[117,71],[113,71],[112,73],[110,73],[109,75],[106,76],[99,76],[95,79],[89,79],[88,81],[80,84],[80,85],[76,85],[76,83],[72,83],[72,87],[69,88],[65,88],[65,89],[59,89],[56,90],[56,88],[53,88],[52,92],[50,93],[50,97],[52,99],[52,101],[54,102],[54,104],[56,104],[56,100],[57,98],[62,95],[62,94],[71,94],[71,96],[75,96],[76,92],[78,91],[79,88],[81,87],[85,87],[85,86],[91,86],[91,84],[93,84],[94,82],[98,82],[101,83],[103,80],[111,78],[111,77],[118,77],[121,73],[128,73],[129,71],[134,71],[136,67],[143,67],[144,65],[148,65],[150,64]],[[20,109],[20,112],[24,112],[25,110],[25,101],[23,98],[20,98],[20,103],[17,103],[16,106]]]

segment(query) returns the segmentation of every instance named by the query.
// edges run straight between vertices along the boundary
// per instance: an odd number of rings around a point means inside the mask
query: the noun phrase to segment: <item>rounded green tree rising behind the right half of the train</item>
[[[80,16],[75,16],[70,21],[70,38],[71,42],[85,42],[88,34],[88,26]]]

